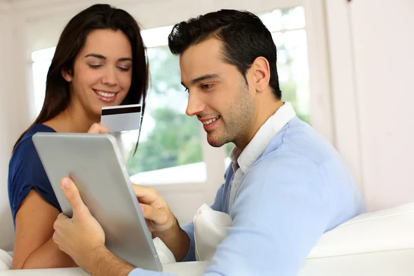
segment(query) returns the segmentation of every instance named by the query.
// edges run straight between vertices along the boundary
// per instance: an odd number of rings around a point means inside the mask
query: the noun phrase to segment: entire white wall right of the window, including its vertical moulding
[[[368,210],[414,201],[414,1],[325,3],[335,145]]]

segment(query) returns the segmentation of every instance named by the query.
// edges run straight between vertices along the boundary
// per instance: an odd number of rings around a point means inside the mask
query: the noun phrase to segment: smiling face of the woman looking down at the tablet
[[[97,117],[103,106],[119,106],[132,78],[132,49],[120,30],[94,30],[79,51],[73,74],[62,72],[70,83],[70,104]]]

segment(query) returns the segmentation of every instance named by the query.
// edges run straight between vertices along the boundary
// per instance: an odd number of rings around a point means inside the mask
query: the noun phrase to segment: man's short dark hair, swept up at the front
[[[270,66],[269,86],[281,99],[276,68],[276,46],[272,35],[255,14],[239,10],[219,10],[177,23],[168,46],[174,55],[181,55],[190,46],[216,38],[223,42],[223,59],[237,67],[246,80],[246,71],[257,57],[264,57]],[[246,81],[247,82],[247,81]]]

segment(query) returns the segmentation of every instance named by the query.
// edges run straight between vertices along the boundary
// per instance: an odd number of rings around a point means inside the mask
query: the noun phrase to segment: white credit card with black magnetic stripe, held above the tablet
[[[141,125],[141,104],[105,106],[101,109],[101,124],[109,132],[138,130]]]

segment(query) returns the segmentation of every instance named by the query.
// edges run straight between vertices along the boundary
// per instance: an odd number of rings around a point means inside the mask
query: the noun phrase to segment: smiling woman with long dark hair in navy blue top
[[[14,269],[75,266],[52,240],[61,212],[32,143],[36,132],[88,132],[103,106],[145,104],[148,61],[137,21],[95,5],[63,30],[46,80],[39,117],[14,145],[8,192],[15,225]],[[143,108],[144,109],[144,108]]]

